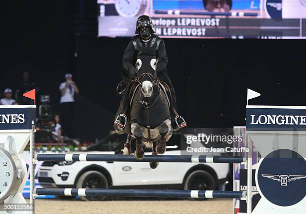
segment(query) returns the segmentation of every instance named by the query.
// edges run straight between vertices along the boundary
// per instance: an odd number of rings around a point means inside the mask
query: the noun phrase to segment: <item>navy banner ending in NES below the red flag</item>
[[[0,130],[32,129],[35,108],[0,108]]]

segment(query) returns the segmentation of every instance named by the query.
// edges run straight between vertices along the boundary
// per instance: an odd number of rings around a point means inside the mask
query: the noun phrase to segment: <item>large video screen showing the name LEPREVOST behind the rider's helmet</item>
[[[137,17],[163,38],[306,39],[306,0],[98,0],[98,36],[132,37]]]

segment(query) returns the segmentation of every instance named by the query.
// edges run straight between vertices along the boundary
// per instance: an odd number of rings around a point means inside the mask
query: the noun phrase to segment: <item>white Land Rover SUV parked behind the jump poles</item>
[[[166,143],[165,154],[180,155],[180,137],[180,134],[172,135]],[[125,140],[125,135],[112,134],[91,146],[85,153],[122,154],[121,149]],[[145,152],[145,154],[151,154],[148,150]],[[151,169],[147,162],[44,161],[39,168],[38,182],[42,187],[60,188],[212,190],[224,184],[228,170],[228,163],[161,162],[156,169]],[[80,198],[82,200],[102,200],[105,197],[81,196]]]

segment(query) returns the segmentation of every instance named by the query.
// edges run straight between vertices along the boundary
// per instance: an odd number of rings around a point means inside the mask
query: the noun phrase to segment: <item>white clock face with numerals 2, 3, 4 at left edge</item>
[[[12,184],[13,167],[7,154],[0,150],[0,198],[9,190]]]

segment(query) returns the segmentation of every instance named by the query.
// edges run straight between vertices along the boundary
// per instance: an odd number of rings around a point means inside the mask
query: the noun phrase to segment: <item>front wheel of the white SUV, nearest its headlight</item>
[[[76,188],[108,188],[106,177],[99,171],[86,171],[76,182]],[[79,196],[81,200],[104,200],[105,196]]]

